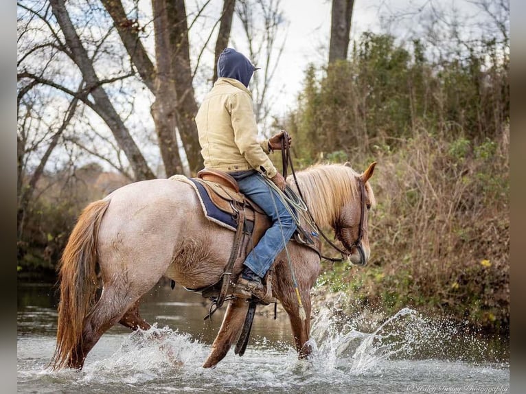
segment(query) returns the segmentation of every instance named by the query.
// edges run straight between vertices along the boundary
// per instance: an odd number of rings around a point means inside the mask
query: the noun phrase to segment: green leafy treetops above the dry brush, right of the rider
[[[312,163],[335,151],[352,158],[400,148],[420,128],[437,138],[499,138],[510,88],[507,58],[496,56],[496,47],[489,40],[467,58],[431,63],[419,40],[408,49],[393,36],[366,32],[350,60],[306,71],[287,125],[298,135],[299,157]]]

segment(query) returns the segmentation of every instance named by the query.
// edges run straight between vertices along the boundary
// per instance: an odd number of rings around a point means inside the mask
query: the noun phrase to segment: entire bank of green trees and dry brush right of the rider
[[[431,64],[412,45],[364,34],[350,60],[308,69],[288,117],[301,163],[378,161],[369,266],[324,263],[319,286],[348,294],[348,308],[412,306],[506,332],[507,60],[472,49]]]

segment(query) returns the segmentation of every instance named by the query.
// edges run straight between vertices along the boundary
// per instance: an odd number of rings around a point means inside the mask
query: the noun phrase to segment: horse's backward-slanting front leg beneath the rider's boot
[[[214,367],[227,355],[231,345],[236,342],[240,335],[248,310],[249,303],[244,299],[230,301],[218,335],[212,344],[211,354],[203,364],[203,368]]]

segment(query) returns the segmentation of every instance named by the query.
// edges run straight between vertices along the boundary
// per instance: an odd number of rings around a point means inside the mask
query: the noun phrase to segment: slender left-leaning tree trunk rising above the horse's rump
[[[137,181],[155,178],[141,151],[130,136],[130,132],[128,132],[128,129],[124,126],[124,122],[117,114],[117,111],[115,111],[115,108],[113,108],[106,91],[100,86],[100,81],[93,68],[93,62],[91,62],[86,49],[82,46],[80,38],[73,27],[73,23],[71,23],[64,0],[49,0],[49,3],[52,5],[52,12],[64,34],[67,46],[71,50],[71,58],[82,72],[87,87],[91,88],[90,93],[95,101],[95,106],[98,108],[98,115],[106,122],[113,133],[113,137],[115,137],[115,140],[126,154],[135,178]]]

